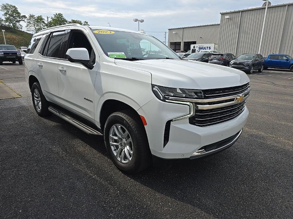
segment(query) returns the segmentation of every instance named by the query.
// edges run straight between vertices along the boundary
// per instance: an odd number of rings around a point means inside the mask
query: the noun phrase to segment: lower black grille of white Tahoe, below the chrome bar
[[[195,115],[189,118],[189,123],[195,126],[210,126],[229,121],[243,112],[245,104],[246,101],[243,101],[226,107],[205,110],[196,109]]]

